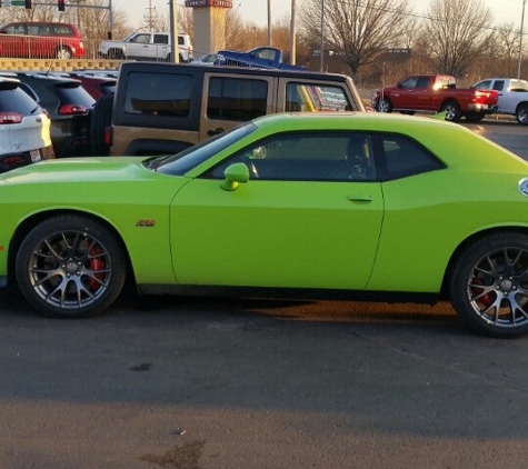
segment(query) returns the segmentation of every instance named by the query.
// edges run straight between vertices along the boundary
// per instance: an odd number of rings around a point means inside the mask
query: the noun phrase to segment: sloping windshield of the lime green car
[[[187,150],[166,158],[158,166],[157,171],[162,172],[163,174],[183,176],[192,168],[196,168],[198,164],[225,150],[236,141],[253,132],[256,129],[257,127],[251,122],[235,127],[231,130],[207,139],[195,147],[190,147]]]

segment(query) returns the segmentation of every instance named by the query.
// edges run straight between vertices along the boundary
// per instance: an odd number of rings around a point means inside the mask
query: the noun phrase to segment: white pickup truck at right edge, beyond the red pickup
[[[497,113],[515,116],[517,122],[528,126],[528,81],[516,78],[487,78],[471,88],[497,90]]]

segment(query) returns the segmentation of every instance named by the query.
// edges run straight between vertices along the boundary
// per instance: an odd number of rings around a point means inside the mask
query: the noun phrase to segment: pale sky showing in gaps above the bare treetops
[[[140,27],[148,18],[149,9],[155,8],[159,14],[169,16],[168,0],[111,0],[112,7],[127,13],[132,26]],[[270,0],[271,20],[282,17],[289,18],[291,12],[291,1]],[[297,0],[299,4],[302,0]],[[520,28],[520,18],[522,13],[522,0],[484,0],[494,16],[495,24],[506,22],[518,23]],[[417,13],[427,10],[429,1],[411,0]],[[178,0],[178,4],[185,4],[185,0]],[[233,9],[240,11],[243,20],[253,21],[259,26],[268,23],[268,0],[232,0]],[[526,8],[525,31],[528,30],[528,8]]]

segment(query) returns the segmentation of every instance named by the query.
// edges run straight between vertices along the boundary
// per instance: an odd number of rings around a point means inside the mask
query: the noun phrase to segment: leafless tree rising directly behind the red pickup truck
[[[438,71],[462,77],[492,42],[490,24],[482,0],[432,0],[425,30]]]

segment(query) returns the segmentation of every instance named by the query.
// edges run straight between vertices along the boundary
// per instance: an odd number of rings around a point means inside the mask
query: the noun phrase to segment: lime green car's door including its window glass
[[[178,282],[365,288],[383,199],[372,150],[365,136],[362,143],[352,137],[281,133],[186,184],[170,208]],[[223,190],[226,168],[240,161],[250,168],[250,180]]]

